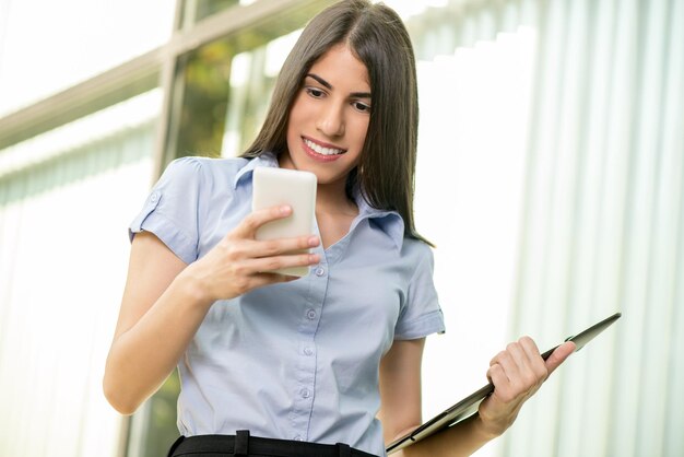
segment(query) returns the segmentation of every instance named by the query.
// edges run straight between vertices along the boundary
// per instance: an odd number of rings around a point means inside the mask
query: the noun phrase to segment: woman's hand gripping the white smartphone
[[[248,214],[204,257],[189,265],[181,276],[196,285],[205,303],[234,298],[263,285],[297,279],[271,271],[318,263],[320,258],[317,254],[302,253],[318,246],[318,236],[256,239],[260,226],[287,218],[291,213],[292,209],[283,206]]]

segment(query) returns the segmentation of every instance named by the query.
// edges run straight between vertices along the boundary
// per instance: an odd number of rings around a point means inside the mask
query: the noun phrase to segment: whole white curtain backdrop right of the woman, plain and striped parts
[[[479,455],[683,455],[684,2],[452,1],[409,24],[447,316],[426,415],[506,340],[544,350],[620,310]]]

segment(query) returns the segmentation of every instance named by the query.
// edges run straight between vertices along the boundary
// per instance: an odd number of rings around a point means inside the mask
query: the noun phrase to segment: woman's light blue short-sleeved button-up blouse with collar
[[[173,162],[130,225],[182,261],[204,256],[251,208],[255,160]],[[370,208],[308,277],[213,304],[178,361],[178,429],[349,445],[385,455],[378,366],[394,339],[444,331],[433,255],[397,212]],[[169,328],[169,332],[174,329]]]

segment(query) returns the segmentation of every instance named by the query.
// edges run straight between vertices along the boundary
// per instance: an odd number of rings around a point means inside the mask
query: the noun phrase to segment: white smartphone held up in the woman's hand
[[[252,176],[252,211],[288,204],[292,214],[263,224],[257,239],[292,238],[315,233],[316,175],[287,168],[258,166]],[[310,251],[303,249],[302,253]],[[276,270],[282,274],[305,277],[309,267],[291,267]]]

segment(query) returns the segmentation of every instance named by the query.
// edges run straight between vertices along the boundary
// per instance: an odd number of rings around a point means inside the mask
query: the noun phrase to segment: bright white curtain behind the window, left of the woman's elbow
[[[102,376],[160,102],[154,91],[0,151],[2,456],[118,453]]]

